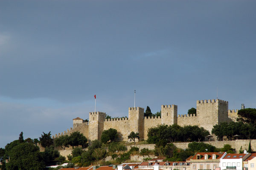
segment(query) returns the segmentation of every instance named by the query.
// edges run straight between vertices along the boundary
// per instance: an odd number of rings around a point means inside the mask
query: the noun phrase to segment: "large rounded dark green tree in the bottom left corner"
[[[21,143],[13,147],[9,153],[10,161],[7,170],[44,170],[44,158],[39,148],[32,143]]]

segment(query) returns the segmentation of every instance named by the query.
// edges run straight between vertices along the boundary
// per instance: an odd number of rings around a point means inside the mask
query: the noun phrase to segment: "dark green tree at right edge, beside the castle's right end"
[[[251,124],[253,127],[256,127],[256,109],[240,109],[237,114],[239,116],[237,121],[241,121],[245,124]]]

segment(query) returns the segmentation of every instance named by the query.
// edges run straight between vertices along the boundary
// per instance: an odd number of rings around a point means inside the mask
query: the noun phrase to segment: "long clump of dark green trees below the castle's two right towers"
[[[148,143],[164,145],[173,141],[201,141],[209,135],[203,127],[173,125],[158,125],[148,130]]]

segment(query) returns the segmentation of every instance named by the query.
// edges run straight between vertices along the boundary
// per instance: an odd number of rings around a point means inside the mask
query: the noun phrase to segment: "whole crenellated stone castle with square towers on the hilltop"
[[[177,105],[162,105],[161,117],[144,117],[144,109],[141,107],[129,107],[128,118],[106,119],[105,112],[90,112],[89,122],[81,118],[73,119],[73,128],[58,133],[69,135],[75,131],[82,133],[89,141],[101,139],[103,130],[116,129],[120,141],[128,141],[128,135],[134,131],[139,133],[140,139],[146,140],[147,130],[158,124],[198,125],[211,133],[215,124],[221,122],[236,121],[238,110],[228,110],[228,101],[220,99],[201,100],[196,102],[196,115],[177,115]]]

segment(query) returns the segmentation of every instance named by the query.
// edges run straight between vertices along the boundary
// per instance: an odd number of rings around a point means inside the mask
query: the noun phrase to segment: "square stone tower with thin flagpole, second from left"
[[[144,108],[129,107],[128,121],[130,133],[139,133],[140,139],[144,139]]]

